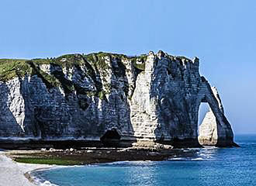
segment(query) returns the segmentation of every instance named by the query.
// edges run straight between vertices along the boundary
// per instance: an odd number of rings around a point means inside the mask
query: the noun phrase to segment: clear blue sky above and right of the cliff
[[[200,59],[234,133],[256,133],[256,1],[1,0],[0,58],[164,50]]]

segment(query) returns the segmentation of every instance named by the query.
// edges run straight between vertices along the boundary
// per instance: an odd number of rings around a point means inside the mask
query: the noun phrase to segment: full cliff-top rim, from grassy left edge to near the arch
[[[150,54],[154,54],[153,52],[149,52]],[[171,56],[168,53],[163,53],[161,50],[158,51],[157,55],[164,54],[165,57],[173,60],[185,60],[190,61],[187,57],[182,56]],[[125,54],[119,53],[74,53],[74,54],[65,54],[60,57],[47,57],[47,58],[35,58],[31,60],[26,59],[0,59],[0,81],[9,81],[14,77],[24,77],[25,75],[34,75],[34,74],[43,74],[47,76],[47,74],[43,73],[39,69],[36,70],[37,66],[43,64],[52,64],[56,66],[60,66],[62,68],[70,68],[77,65],[90,64],[95,68],[104,68],[106,67],[106,60],[108,59],[116,59],[121,63],[125,60],[130,61],[134,67],[137,69],[144,71],[144,62],[147,60],[148,54],[141,54],[140,56],[127,56]],[[196,58],[197,59],[197,58]],[[50,77],[48,77],[50,78]]]

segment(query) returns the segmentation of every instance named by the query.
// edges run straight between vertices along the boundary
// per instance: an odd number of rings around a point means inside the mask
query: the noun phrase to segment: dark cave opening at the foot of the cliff
[[[119,145],[121,136],[116,129],[107,130],[106,133],[100,138],[103,146],[116,147]]]

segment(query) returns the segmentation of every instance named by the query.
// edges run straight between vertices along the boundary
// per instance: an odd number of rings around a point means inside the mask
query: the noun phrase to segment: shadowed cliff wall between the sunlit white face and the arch
[[[160,54],[164,57],[164,53]],[[192,65],[192,61],[184,63],[179,58],[157,59],[150,94],[150,99],[157,101],[159,125],[154,130],[157,143],[175,147],[200,146],[195,110],[200,81],[195,78],[193,82]]]

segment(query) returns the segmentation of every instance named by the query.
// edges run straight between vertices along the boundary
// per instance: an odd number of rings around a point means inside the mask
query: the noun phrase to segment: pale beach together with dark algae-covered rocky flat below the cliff
[[[217,148],[217,147],[215,147]],[[0,150],[0,164],[5,165],[0,178],[3,185],[38,185],[33,172],[66,165],[84,166],[117,161],[162,161],[173,157],[195,157],[202,148],[152,149],[152,148],[87,148],[85,150]],[[22,162],[22,163],[20,163]],[[7,170],[5,170],[5,167]],[[0,167],[1,170],[2,166]],[[15,174],[15,176],[13,176]],[[19,174],[19,175],[18,175]],[[18,176],[17,176],[18,175]],[[9,182],[6,182],[9,181]],[[22,184],[20,184],[22,183]],[[49,183],[48,183],[49,184]]]

